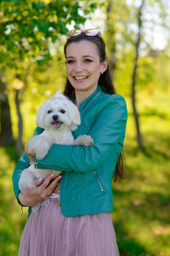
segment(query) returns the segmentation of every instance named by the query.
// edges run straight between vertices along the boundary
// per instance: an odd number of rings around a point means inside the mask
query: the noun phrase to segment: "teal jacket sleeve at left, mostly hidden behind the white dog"
[[[37,127],[35,132],[34,132],[34,135],[37,135],[37,134],[40,134],[40,133],[41,133],[41,128]],[[19,183],[19,180],[20,180],[20,175],[21,175],[21,172],[24,169],[27,169],[30,166],[29,165],[29,159],[28,159],[26,153],[22,154],[22,156],[20,157],[18,162],[19,163],[15,166],[15,169],[14,169],[14,172],[13,172],[13,175],[12,175],[12,182],[13,182],[14,194],[17,198],[18,204],[20,204],[20,201],[18,199],[18,194],[20,192],[19,186],[18,186],[18,183]],[[23,206],[23,205],[20,204],[20,206]]]

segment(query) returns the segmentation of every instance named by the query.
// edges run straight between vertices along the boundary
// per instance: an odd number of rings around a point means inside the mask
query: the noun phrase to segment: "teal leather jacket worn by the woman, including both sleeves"
[[[79,111],[81,125],[73,136],[76,139],[79,135],[91,135],[94,146],[53,144],[43,160],[35,157],[37,168],[62,171],[59,197],[66,217],[113,212],[112,176],[125,139],[127,106],[123,96],[106,94],[98,85],[81,103]],[[35,134],[41,132],[42,128],[37,127]],[[12,177],[17,200],[19,175],[28,166],[24,153]]]

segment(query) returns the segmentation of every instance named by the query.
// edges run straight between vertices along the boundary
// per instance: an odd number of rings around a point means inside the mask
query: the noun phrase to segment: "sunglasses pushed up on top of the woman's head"
[[[100,33],[100,30],[99,29],[83,29],[83,30],[80,30],[80,29],[73,29],[71,31],[68,31],[66,33],[67,37],[71,38],[71,37],[75,37],[77,35],[80,35],[81,33],[84,33],[85,35],[87,36],[95,36],[95,35],[100,35],[100,37],[102,38],[102,35]],[[103,38],[102,38],[102,42],[103,42]],[[103,47],[105,49],[105,44],[103,42]]]

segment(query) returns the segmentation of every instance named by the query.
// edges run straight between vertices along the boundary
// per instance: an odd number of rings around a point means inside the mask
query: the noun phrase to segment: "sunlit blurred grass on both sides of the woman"
[[[126,97],[125,97],[126,98]],[[124,144],[127,179],[112,184],[113,226],[120,256],[170,256],[170,105],[168,94],[138,94],[145,151],[139,151],[130,99]],[[29,110],[28,110],[29,111]],[[28,116],[32,125],[28,129]],[[35,113],[24,119],[23,142],[34,131]],[[15,120],[16,122],[16,120]],[[15,134],[16,134],[16,128]],[[0,148],[0,256],[17,256],[27,208],[20,215],[11,176],[14,147]]]

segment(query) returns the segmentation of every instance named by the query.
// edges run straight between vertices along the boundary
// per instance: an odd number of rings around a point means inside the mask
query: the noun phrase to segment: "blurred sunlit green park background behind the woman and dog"
[[[20,215],[11,176],[38,108],[64,88],[74,28],[101,30],[127,102],[127,179],[112,186],[120,256],[170,256],[169,14],[166,0],[0,2],[0,256],[17,256],[28,209]]]

